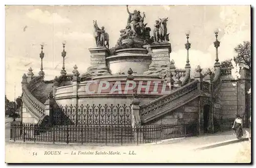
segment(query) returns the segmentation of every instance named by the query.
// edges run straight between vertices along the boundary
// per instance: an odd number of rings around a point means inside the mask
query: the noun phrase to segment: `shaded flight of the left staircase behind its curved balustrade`
[[[52,92],[52,86],[53,83],[44,83],[41,82],[41,84],[35,88],[31,94],[39,100],[41,103],[45,103],[47,100],[47,96],[50,92]]]

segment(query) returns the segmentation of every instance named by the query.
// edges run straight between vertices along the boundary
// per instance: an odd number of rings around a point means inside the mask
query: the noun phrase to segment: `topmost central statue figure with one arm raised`
[[[137,12],[137,10],[134,10],[134,13],[131,13],[128,9],[128,5],[126,5],[126,8],[127,8],[127,13],[129,14],[127,24],[131,25],[131,31],[133,35],[137,36],[138,34],[136,32],[136,26],[138,25],[137,23],[140,21],[142,17],[140,13]]]

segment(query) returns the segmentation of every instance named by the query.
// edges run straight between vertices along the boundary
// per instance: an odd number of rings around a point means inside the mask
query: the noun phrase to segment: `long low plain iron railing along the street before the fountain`
[[[163,139],[198,135],[198,123],[148,125],[139,128],[118,125],[54,125],[39,127],[30,123],[11,123],[13,141],[79,143],[79,144],[144,144]]]

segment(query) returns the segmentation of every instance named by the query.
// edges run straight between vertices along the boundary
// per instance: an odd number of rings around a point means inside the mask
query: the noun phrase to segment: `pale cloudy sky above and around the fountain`
[[[167,32],[172,45],[170,60],[177,68],[186,64],[185,32],[190,31],[191,69],[215,63],[214,30],[219,29],[219,60],[230,59],[233,48],[250,41],[250,6],[129,6],[145,12],[144,22],[153,35],[155,20],[168,17]],[[10,100],[22,94],[22,75],[31,67],[40,71],[40,44],[45,43],[45,79],[60,75],[62,41],[66,41],[65,67],[72,73],[76,64],[80,74],[90,66],[88,48],[95,47],[93,20],[104,26],[114,47],[127,22],[126,6],[6,6],[5,61],[6,95]],[[15,90],[14,90],[15,87]]]

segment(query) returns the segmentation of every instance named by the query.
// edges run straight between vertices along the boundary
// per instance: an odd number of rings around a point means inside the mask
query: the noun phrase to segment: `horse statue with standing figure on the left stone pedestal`
[[[104,27],[102,26],[102,30],[99,29],[97,20],[93,20],[93,27],[94,27],[94,39],[96,42],[96,46],[97,47],[108,46],[108,49],[109,49],[109,34],[105,32]]]

